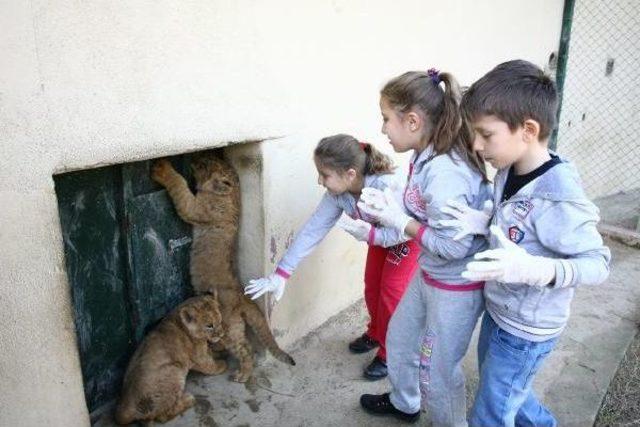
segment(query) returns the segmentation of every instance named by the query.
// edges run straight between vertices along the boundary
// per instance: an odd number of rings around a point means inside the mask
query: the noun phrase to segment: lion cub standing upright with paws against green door
[[[190,273],[196,294],[214,293],[226,331],[224,346],[239,361],[233,380],[246,382],[253,372],[253,350],[245,323],[276,359],[295,365],[273,337],[258,306],[247,298],[238,280],[235,255],[240,225],[240,179],[233,167],[212,153],[192,162],[197,193],[168,160],[154,163],[151,177],[167,189],[183,221],[193,225]]]

